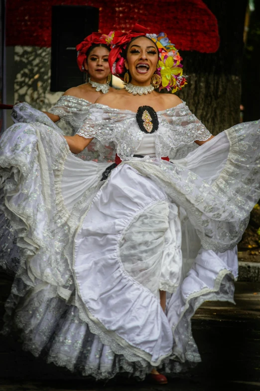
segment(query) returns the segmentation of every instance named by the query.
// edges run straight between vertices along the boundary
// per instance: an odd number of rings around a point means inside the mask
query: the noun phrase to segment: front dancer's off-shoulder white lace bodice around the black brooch
[[[159,127],[152,134],[141,131],[133,111],[99,103],[91,105],[89,111],[89,116],[77,134],[85,138],[95,137],[105,145],[114,142],[122,160],[129,160],[135,154],[176,158],[176,153],[183,146],[187,151],[186,146],[193,148],[195,140],[205,141],[211,137],[211,133],[190,112],[185,102],[158,111]]]

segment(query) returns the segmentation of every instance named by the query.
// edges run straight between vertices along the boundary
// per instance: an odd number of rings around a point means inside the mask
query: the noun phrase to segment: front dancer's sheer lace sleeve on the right
[[[185,102],[165,110],[164,121],[167,121],[167,125],[171,127],[172,146],[175,148],[176,144],[206,141],[212,136],[203,123],[191,113]]]

